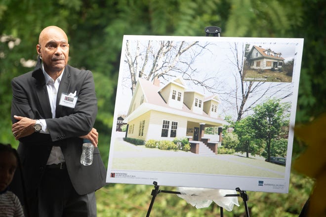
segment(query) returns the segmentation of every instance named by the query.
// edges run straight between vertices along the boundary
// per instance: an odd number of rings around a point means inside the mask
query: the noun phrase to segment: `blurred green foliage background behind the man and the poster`
[[[219,26],[222,36],[303,37],[296,121],[308,121],[326,108],[325,13],[324,0],[0,0],[0,141],[17,146],[11,134],[10,80],[33,69],[23,67],[21,60],[36,60],[39,33],[49,25],[66,31],[70,65],[94,74],[99,107],[95,127],[105,163],[123,35],[204,36],[204,27]],[[293,156],[303,148],[295,143]],[[248,192],[250,212],[297,216],[312,183],[292,173],[289,194]],[[145,216],[152,188],[109,184],[97,191],[98,216]],[[241,205],[225,216],[244,216]],[[215,204],[197,210],[175,195],[159,194],[151,216],[218,214]]]

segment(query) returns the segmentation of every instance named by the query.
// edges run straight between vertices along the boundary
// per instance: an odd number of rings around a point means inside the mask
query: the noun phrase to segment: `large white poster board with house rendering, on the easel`
[[[107,182],[287,193],[302,49],[302,38],[124,36]]]

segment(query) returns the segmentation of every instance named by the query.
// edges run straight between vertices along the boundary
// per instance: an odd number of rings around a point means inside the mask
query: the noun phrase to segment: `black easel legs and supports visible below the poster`
[[[146,217],[150,216],[155,198],[159,193],[162,192],[162,193],[169,193],[169,194],[181,194],[179,191],[159,190],[160,185],[158,185],[158,182],[156,182],[156,181],[154,181],[153,184],[154,184],[155,188],[152,190],[152,193],[151,193],[151,195],[153,197],[151,200],[151,204],[148,208]],[[246,215],[246,217],[249,217],[249,210],[248,210],[248,206],[247,206],[247,201],[249,200],[249,197],[246,194],[246,192],[241,190],[239,187],[236,188],[236,191],[238,191],[240,194],[226,194],[225,197],[241,197],[244,200],[245,215]],[[220,207],[220,216],[223,217],[223,207]]]

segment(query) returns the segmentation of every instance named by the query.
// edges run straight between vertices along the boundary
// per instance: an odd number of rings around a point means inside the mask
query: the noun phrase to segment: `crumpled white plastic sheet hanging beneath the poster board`
[[[236,190],[194,187],[178,187],[177,189],[181,193],[177,195],[197,209],[206,208],[212,202],[229,212],[232,211],[234,205],[240,206],[238,197],[225,197],[226,194],[237,194]]]

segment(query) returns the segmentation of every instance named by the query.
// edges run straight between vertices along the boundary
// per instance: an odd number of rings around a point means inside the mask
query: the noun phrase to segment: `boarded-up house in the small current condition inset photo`
[[[276,53],[270,48],[264,49],[261,46],[253,45],[247,55],[247,61],[250,69],[277,70],[281,69],[284,64],[285,59],[281,55],[281,53]]]

